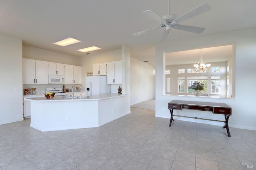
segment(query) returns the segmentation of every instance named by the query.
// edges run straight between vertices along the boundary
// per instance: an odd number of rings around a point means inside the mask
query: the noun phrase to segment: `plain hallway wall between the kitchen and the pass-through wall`
[[[155,98],[155,67],[131,57],[131,105]]]

